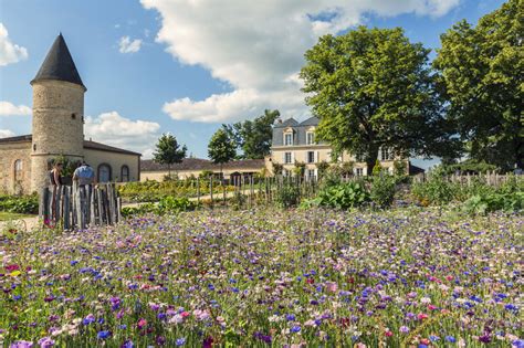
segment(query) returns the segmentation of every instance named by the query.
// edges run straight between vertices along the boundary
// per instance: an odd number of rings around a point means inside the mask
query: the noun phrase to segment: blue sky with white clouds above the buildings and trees
[[[62,32],[84,84],[86,137],[150,157],[172,133],[197,157],[221,123],[308,109],[296,73],[318,35],[357,24],[439,35],[501,0],[0,0],[0,136],[31,133],[29,82]],[[425,167],[431,162],[425,162]]]

